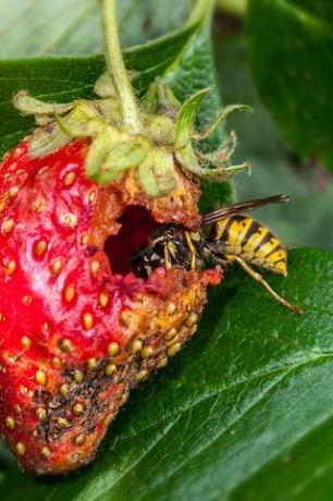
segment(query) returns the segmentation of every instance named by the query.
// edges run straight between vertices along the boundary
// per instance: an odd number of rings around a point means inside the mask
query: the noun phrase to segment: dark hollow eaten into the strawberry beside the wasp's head
[[[131,259],[139,247],[148,244],[151,232],[158,228],[149,210],[140,206],[128,206],[119,219],[121,229],[104,243],[112,272],[127,274],[133,271]]]

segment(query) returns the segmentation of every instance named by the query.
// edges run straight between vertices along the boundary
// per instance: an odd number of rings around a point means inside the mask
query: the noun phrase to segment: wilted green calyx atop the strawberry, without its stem
[[[151,87],[156,89],[165,86],[158,81]],[[36,123],[41,125],[29,138],[32,157],[47,156],[73,138],[89,138],[86,161],[88,178],[107,184],[120,179],[127,170],[137,169],[144,191],[155,197],[168,195],[175,190],[175,164],[184,173],[218,182],[249,170],[247,163],[231,166],[230,159],[236,145],[234,133],[213,155],[205,155],[197,147],[196,143],[207,138],[226,114],[237,109],[247,109],[242,105],[226,107],[206,131],[198,133],[194,127],[198,112],[196,101],[201,102],[207,93],[208,89],[203,89],[182,107],[177,106],[176,120],[171,117],[175,110],[172,101],[168,102],[168,114],[161,114],[160,109],[165,109],[165,102],[156,96],[155,113],[140,110],[143,131],[138,134],[126,131],[121,119],[119,99],[112,95],[90,101],[57,105],[39,101],[22,90],[15,96],[14,105],[24,114],[34,114]],[[168,94],[171,95],[171,89],[168,89]],[[148,106],[151,109],[151,102]],[[195,111],[192,110],[193,106]]]

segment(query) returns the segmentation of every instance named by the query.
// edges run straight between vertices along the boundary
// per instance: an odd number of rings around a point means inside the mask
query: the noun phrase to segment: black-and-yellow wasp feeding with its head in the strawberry
[[[237,262],[283,306],[295,313],[301,308],[281,297],[251,266],[287,276],[287,249],[271,231],[242,212],[268,204],[284,204],[287,195],[243,201],[221,207],[202,217],[199,231],[165,224],[149,237],[148,245],[140,247],[132,258],[132,268],[143,278],[148,278],[159,267],[171,269],[203,270],[212,265],[226,269]]]

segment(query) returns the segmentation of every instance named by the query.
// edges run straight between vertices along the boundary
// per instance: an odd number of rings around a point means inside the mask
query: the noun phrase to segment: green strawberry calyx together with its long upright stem
[[[203,130],[196,130],[196,118],[209,88],[189,97],[182,106],[160,80],[149,87],[140,106],[134,96],[133,73],[125,70],[115,23],[115,1],[102,2],[108,71],[95,85],[96,99],[49,103],[21,90],[14,106],[34,114],[39,127],[29,138],[29,155],[44,157],[71,143],[87,138],[87,178],[108,184],[135,169],[148,197],[164,196],[177,187],[177,169],[189,178],[224,182],[247,163],[231,166],[236,136],[227,137],[214,155],[200,151],[200,142],[212,134],[243,105],[224,108]]]

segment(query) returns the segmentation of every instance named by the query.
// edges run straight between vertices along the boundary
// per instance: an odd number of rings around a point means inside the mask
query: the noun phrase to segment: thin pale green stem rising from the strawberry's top
[[[143,130],[133,88],[127,77],[116,24],[116,0],[102,0],[107,69],[121,101],[125,127],[133,134]]]

